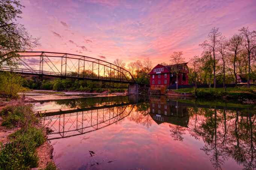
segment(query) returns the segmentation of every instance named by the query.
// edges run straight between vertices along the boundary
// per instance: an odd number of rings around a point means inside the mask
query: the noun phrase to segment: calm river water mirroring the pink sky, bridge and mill
[[[171,96],[35,102],[61,170],[255,169],[255,106]],[[61,111],[60,111],[61,110]]]

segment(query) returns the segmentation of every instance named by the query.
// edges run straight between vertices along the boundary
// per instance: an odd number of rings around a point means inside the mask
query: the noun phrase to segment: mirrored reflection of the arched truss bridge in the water
[[[94,107],[84,111],[70,110],[70,113],[46,116],[44,124],[53,130],[48,134],[48,139],[77,136],[115,124],[130,115],[135,105],[123,103],[118,106]]]

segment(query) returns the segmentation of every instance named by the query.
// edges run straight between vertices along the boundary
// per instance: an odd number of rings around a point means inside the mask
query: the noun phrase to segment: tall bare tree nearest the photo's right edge
[[[251,53],[256,48],[256,31],[249,31],[248,27],[242,27],[239,30],[243,36],[243,45],[247,50],[248,57],[248,76],[247,76],[247,87],[250,86],[250,75],[251,75]],[[253,54],[252,54],[253,55]]]

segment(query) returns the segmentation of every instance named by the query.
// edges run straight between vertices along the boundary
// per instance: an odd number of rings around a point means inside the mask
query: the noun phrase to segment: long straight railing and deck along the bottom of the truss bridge
[[[122,78],[114,78],[114,77],[103,77],[98,75],[80,75],[75,73],[56,73],[56,72],[48,72],[48,71],[40,71],[40,70],[30,70],[30,69],[19,69],[19,68],[9,68],[9,67],[1,67],[0,71],[7,72],[17,72],[21,74],[30,74],[30,75],[44,75],[44,76],[58,76],[60,78],[87,78],[87,79],[95,79],[95,80],[109,80],[109,81],[123,81],[123,82],[135,82],[133,79],[122,79]]]

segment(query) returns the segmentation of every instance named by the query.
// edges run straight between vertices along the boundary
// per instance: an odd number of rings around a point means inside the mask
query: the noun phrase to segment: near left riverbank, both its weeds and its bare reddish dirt
[[[0,109],[1,169],[55,167],[47,128],[35,115],[32,104],[11,100]],[[55,167],[56,168],[56,167]]]

